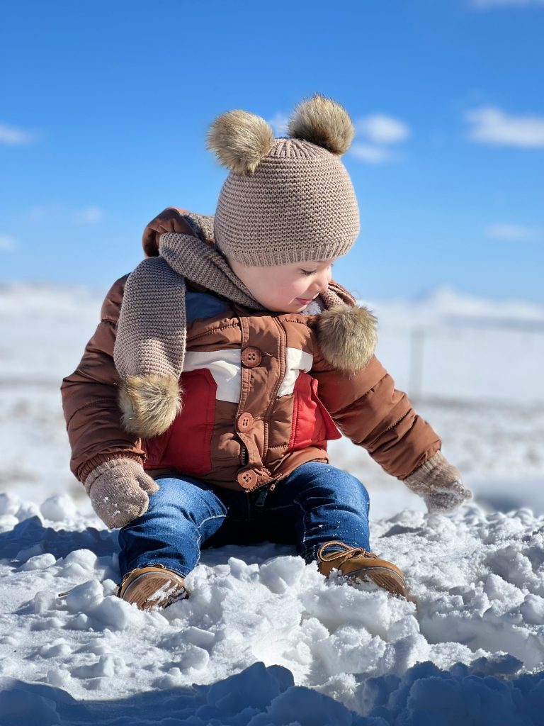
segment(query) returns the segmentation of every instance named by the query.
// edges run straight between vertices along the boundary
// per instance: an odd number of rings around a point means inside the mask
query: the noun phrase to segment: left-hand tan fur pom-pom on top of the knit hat
[[[271,150],[274,132],[264,118],[236,109],[222,113],[210,126],[206,146],[234,174],[252,174]]]

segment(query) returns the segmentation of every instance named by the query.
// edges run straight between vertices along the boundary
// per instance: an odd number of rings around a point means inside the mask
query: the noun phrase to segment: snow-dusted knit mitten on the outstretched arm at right
[[[461,473],[438,451],[403,482],[423,497],[429,514],[445,514],[461,507],[472,492],[461,481]]]

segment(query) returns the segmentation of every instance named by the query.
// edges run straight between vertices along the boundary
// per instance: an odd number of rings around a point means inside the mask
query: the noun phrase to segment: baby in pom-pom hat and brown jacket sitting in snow
[[[230,173],[215,215],[149,224],[146,258],[62,381],[71,469],[120,528],[118,596],[139,608],[186,597],[202,546],[263,540],[406,597],[371,552],[365,487],[329,464],[342,433],[429,512],[471,497],[376,359],[376,319],[331,280],[359,232],[340,160],[353,134],[321,94],[281,138],[245,111],[218,116],[208,148]]]

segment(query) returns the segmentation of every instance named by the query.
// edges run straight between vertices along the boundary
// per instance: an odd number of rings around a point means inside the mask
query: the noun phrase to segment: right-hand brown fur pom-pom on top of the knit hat
[[[292,139],[304,139],[339,156],[350,148],[355,135],[345,108],[322,94],[315,94],[297,105],[288,129]]]

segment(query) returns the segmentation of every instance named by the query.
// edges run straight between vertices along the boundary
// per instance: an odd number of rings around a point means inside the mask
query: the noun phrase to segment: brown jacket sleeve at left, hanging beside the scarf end
[[[72,449],[70,469],[79,481],[104,461],[127,457],[143,463],[141,439],[120,423],[117,395],[120,378],[113,362],[113,346],[128,274],[107,293],[100,322],[88,341],[80,364],[62,379],[60,392],[66,430]]]

